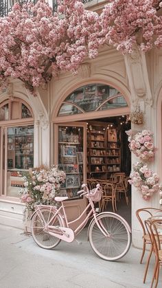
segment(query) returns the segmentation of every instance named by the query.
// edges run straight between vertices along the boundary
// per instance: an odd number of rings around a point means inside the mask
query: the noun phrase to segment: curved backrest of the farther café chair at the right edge
[[[162,210],[157,208],[141,208],[136,211],[136,216],[137,219],[139,220],[139,223],[141,224],[143,235],[147,234],[145,221],[148,220],[148,218],[152,218],[153,215],[156,214],[157,212],[161,212],[162,214]]]

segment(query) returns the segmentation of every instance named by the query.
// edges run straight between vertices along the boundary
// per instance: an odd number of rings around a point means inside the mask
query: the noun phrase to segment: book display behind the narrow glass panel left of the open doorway
[[[83,127],[59,126],[58,166],[66,173],[60,195],[78,199],[83,183]]]

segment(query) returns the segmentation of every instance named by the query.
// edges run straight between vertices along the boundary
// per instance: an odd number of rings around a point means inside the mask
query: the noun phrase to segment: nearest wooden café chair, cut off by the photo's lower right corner
[[[162,219],[156,219],[156,220],[146,220],[146,229],[148,230],[148,234],[150,236],[150,241],[152,243],[152,251],[154,252],[155,256],[155,263],[154,263],[154,274],[152,276],[152,283],[151,287],[155,285],[154,288],[157,287],[158,281],[159,281],[159,269],[162,265],[162,250],[161,250],[161,236],[159,236],[159,230],[162,232]]]

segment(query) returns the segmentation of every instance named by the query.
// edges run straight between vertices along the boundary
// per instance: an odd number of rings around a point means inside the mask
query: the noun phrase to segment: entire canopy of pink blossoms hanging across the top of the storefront
[[[47,0],[16,2],[0,17],[0,82],[19,78],[35,93],[60,71],[72,71],[100,45],[123,53],[138,47],[162,47],[160,0],[115,0],[102,13],[85,10],[81,0],[58,0],[58,13]]]

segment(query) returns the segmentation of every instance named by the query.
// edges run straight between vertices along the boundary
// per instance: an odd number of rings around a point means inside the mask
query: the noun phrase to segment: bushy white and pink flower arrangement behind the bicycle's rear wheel
[[[40,167],[23,177],[25,188],[19,190],[21,202],[25,203],[25,217],[28,218],[36,205],[55,205],[54,197],[59,194],[60,185],[66,174],[58,167]]]

